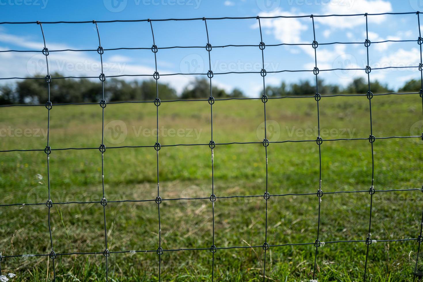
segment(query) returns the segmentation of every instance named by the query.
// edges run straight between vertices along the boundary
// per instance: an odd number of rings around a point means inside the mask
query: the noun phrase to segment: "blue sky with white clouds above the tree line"
[[[421,2],[421,3],[420,3]],[[166,19],[223,16],[295,16],[323,14],[361,14],[385,12],[423,11],[423,1],[404,0],[0,0],[1,21],[91,21],[114,19]],[[423,17],[422,17],[423,21]],[[99,23],[103,48],[151,47],[153,40],[148,22]],[[423,24],[422,24],[423,25]],[[257,19],[208,20],[212,46],[227,44],[258,44],[260,30]],[[311,43],[313,26],[309,17],[300,19],[261,19],[263,41],[266,45],[280,43]],[[95,25],[56,24],[43,25],[49,50],[96,49],[98,38]],[[156,45],[205,46],[207,43],[204,22],[167,21],[153,22]],[[364,42],[365,17],[315,18],[316,41]],[[416,40],[417,15],[368,16],[369,39]],[[423,26],[422,26],[423,31]],[[418,66],[420,49],[417,42],[386,42],[371,44],[369,48],[372,68],[387,66]],[[0,25],[0,50],[41,50],[40,27],[28,25]],[[100,58],[96,52],[50,52],[50,72],[58,71],[69,76],[98,76]],[[152,74],[154,55],[151,50],[115,50],[104,52],[104,73]],[[25,77],[46,74],[45,57],[33,52],[0,52],[0,77]],[[314,51],[309,45],[268,46],[264,50],[267,71],[313,69]],[[205,48],[160,49],[157,68],[166,73],[206,73],[209,69]],[[319,45],[319,69],[364,68],[367,65],[364,44]],[[211,68],[215,73],[227,71],[260,71],[261,51],[258,47],[213,48]],[[364,71],[321,71],[319,79],[346,85]],[[412,78],[419,78],[417,68],[374,70],[371,80],[378,79],[396,89]],[[133,77],[124,79],[132,80]],[[142,77],[138,79],[143,79]],[[195,75],[160,77],[179,92],[195,79]],[[279,85],[281,81],[297,82],[313,79],[311,72],[267,74],[266,85]],[[13,83],[13,80],[2,83]],[[247,96],[257,96],[262,89],[259,74],[215,75],[213,83],[231,90],[240,88]],[[310,93],[305,93],[310,94]]]

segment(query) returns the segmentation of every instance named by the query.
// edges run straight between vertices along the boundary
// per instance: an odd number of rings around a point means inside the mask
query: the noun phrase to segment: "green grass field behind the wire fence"
[[[374,96],[371,100],[376,137],[410,136],[423,119],[417,95]],[[320,126],[323,140],[368,138],[369,102],[360,97],[322,97]],[[44,107],[0,109],[1,150],[44,149],[47,110]],[[271,99],[266,104],[268,139],[316,140],[317,107],[313,97]],[[56,148],[98,148],[102,137],[99,105],[54,106],[50,111],[49,145]],[[152,103],[109,104],[104,110],[106,147],[154,145],[156,107]],[[109,127],[126,126],[123,142],[113,144]],[[263,103],[260,100],[216,101],[213,139],[216,143],[262,141]],[[10,126],[10,127],[9,127]],[[420,124],[421,126],[421,124]],[[10,133],[13,129],[13,133]],[[19,134],[19,130],[26,133]],[[38,130],[39,129],[39,130]],[[207,144],[210,106],[206,101],[162,103],[159,142]],[[174,130],[174,131],[173,131]],[[179,130],[179,131],[178,131]],[[416,129],[412,135],[420,135]],[[4,136],[5,135],[5,136]],[[26,135],[26,136],[21,136]],[[119,140],[121,141],[121,140]],[[412,281],[418,242],[379,240],[417,238],[422,216],[420,189],[422,144],[419,138],[392,138],[374,142],[374,188],[371,234],[376,240],[368,255],[368,281]],[[47,201],[47,157],[44,151],[0,153],[1,204]],[[98,150],[52,151],[50,187],[53,203],[91,202],[102,197],[101,153]],[[268,190],[275,194],[315,193],[319,189],[319,147],[316,142],[271,143],[268,147]],[[368,140],[323,141],[323,192],[368,191],[371,186],[371,145]],[[261,144],[217,145],[214,149],[214,193],[217,197],[263,195],[266,159]],[[207,145],[162,147],[159,151],[162,199],[209,197],[211,152]],[[40,179],[42,178],[42,179]],[[151,200],[157,193],[156,151],[153,148],[107,149],[104,153],[104,189],[108,201]],[[270,197],[267,242],[270,245],[313,243],[317,235],[319,200],[313,195]],[[160,204],[163,249],[209,248],[212,236],[211,202],[164,200]],[[368,233],[368,192],[324,194],[321,202],[321,242],[365,240]],[[45,205],[0,207],[0,252],[8,255],[50,252],[48,208]],[[159,244],[157,204],[108,203],[107,240],[111,252],[155,250]],[[263,197],[218,199],[215,203],[215,245],[261,246],[265,236]],[[104,281],[103,207],[100,203],[54,204],[51,230],[58,281]],[[312,279],[315,248],[309,245],[271,247],[266,253],[268,281]],[[364,242],[332,243],[319,247],[318,281],[361,281]],[[423,256],[422,256],[423,257]],[[164,252],[162,281],[210,281],[209,250]],[[155,281],[159,256],[155,252],[111,254],[110,281]],[[420,264],[420,263],[419,263]],[[261,281],[264,250],[218,249],[216,281]],[[51,281],[47,256],[3,258],[3,274],[14,281]],[[423,269],[419,266],[419,269]],[[76,278],[71,278],[67,274]],[[72,280],[76,279],[76,280]]]

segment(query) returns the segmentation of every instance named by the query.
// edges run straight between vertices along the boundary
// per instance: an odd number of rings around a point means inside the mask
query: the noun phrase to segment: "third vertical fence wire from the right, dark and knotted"
[[[313,15],[310,16],[311,21],[313,23],[313,43],[312,47],[314,49],[314,69],[313,74],[316,76],[316,93],[314,94],[314,99],[317,102],[317,139],[316,143],[319,145],[319,190],[317,190],[317,197],[319,199],[319,211],[318,211],[318,218],[317,218],[317,238],[314,242],[314,246],[316,247],[316,251],[314,252],[314,265],[313,265],[313,280],[316,276],[316,265],[317,265],[317,249],[320,246],[319,241],[319,231],[320,231],[320,206],[321,206],[321,197],[323,196],[323,191],[321,190],[321,148],[320,145],[323,143],[322,138],[320,137],[320,112],[319,112],[319,101],[321,99],[321,95],[319,93],[319,83],[317,79],[317,75],[319,74],[319,68],[317,67],[317,47],[319,43],[316,41],[316,30],[314,28],[314,17]]]

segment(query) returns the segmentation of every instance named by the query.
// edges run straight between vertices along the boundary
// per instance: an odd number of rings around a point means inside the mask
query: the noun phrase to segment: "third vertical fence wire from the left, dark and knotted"
[[[160,106],[160,99],[159,99],[159,72],[157,71],[157,45],[156,41],[154,39],[154,31],[153,31],[153,24],[151,23],[151,20],[148,19],[148,22],[150,22],[151,27],[151,36],[153,37],[153,46],[151,47],[151,51],[154,53],[154,66],[155,71],[153,74],[153,78],[156,80],[156,99],[154,100],[154,105],[156,106],[156,126],[157,126],[157,137],[156,137],[156,144],[154,145],[154,149],[157,152],[156,157],[156,163],[157,163],[157,196],[155,202],[157,203],[157,211],[159,215],[159,247],[157,248],[157,255],[159,255],[159,282],[160,277],[162,274],[162,255],[163,255],[163,249],[162,249],[162,227],[160,223],[160,204],[162,203],[162,198],[160,197],[160,191],[159,191],[159,150],[161,148],[159,143],[159,106]]]

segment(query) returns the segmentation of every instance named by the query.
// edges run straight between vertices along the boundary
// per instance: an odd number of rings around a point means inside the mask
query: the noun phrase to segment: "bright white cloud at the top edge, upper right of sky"
[[[384,0],[331,0],[324,5],[324,14],[376,14],[392,11],[392,5]],[[360,19],[362,17],[362,19]],[[368,16],[369,23],[380,24],[387,16]],[[316,17],[315,22],[330,25],[336,28],[354,28],[357,25],[365,25],[364,16],[329,16]]]

